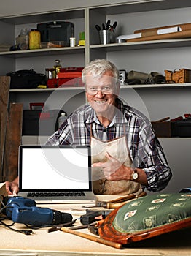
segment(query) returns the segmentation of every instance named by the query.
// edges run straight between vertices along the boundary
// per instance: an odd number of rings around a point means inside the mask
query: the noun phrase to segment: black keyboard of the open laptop
[[[28,197],[83,197],[85,192],[28,192]]]

